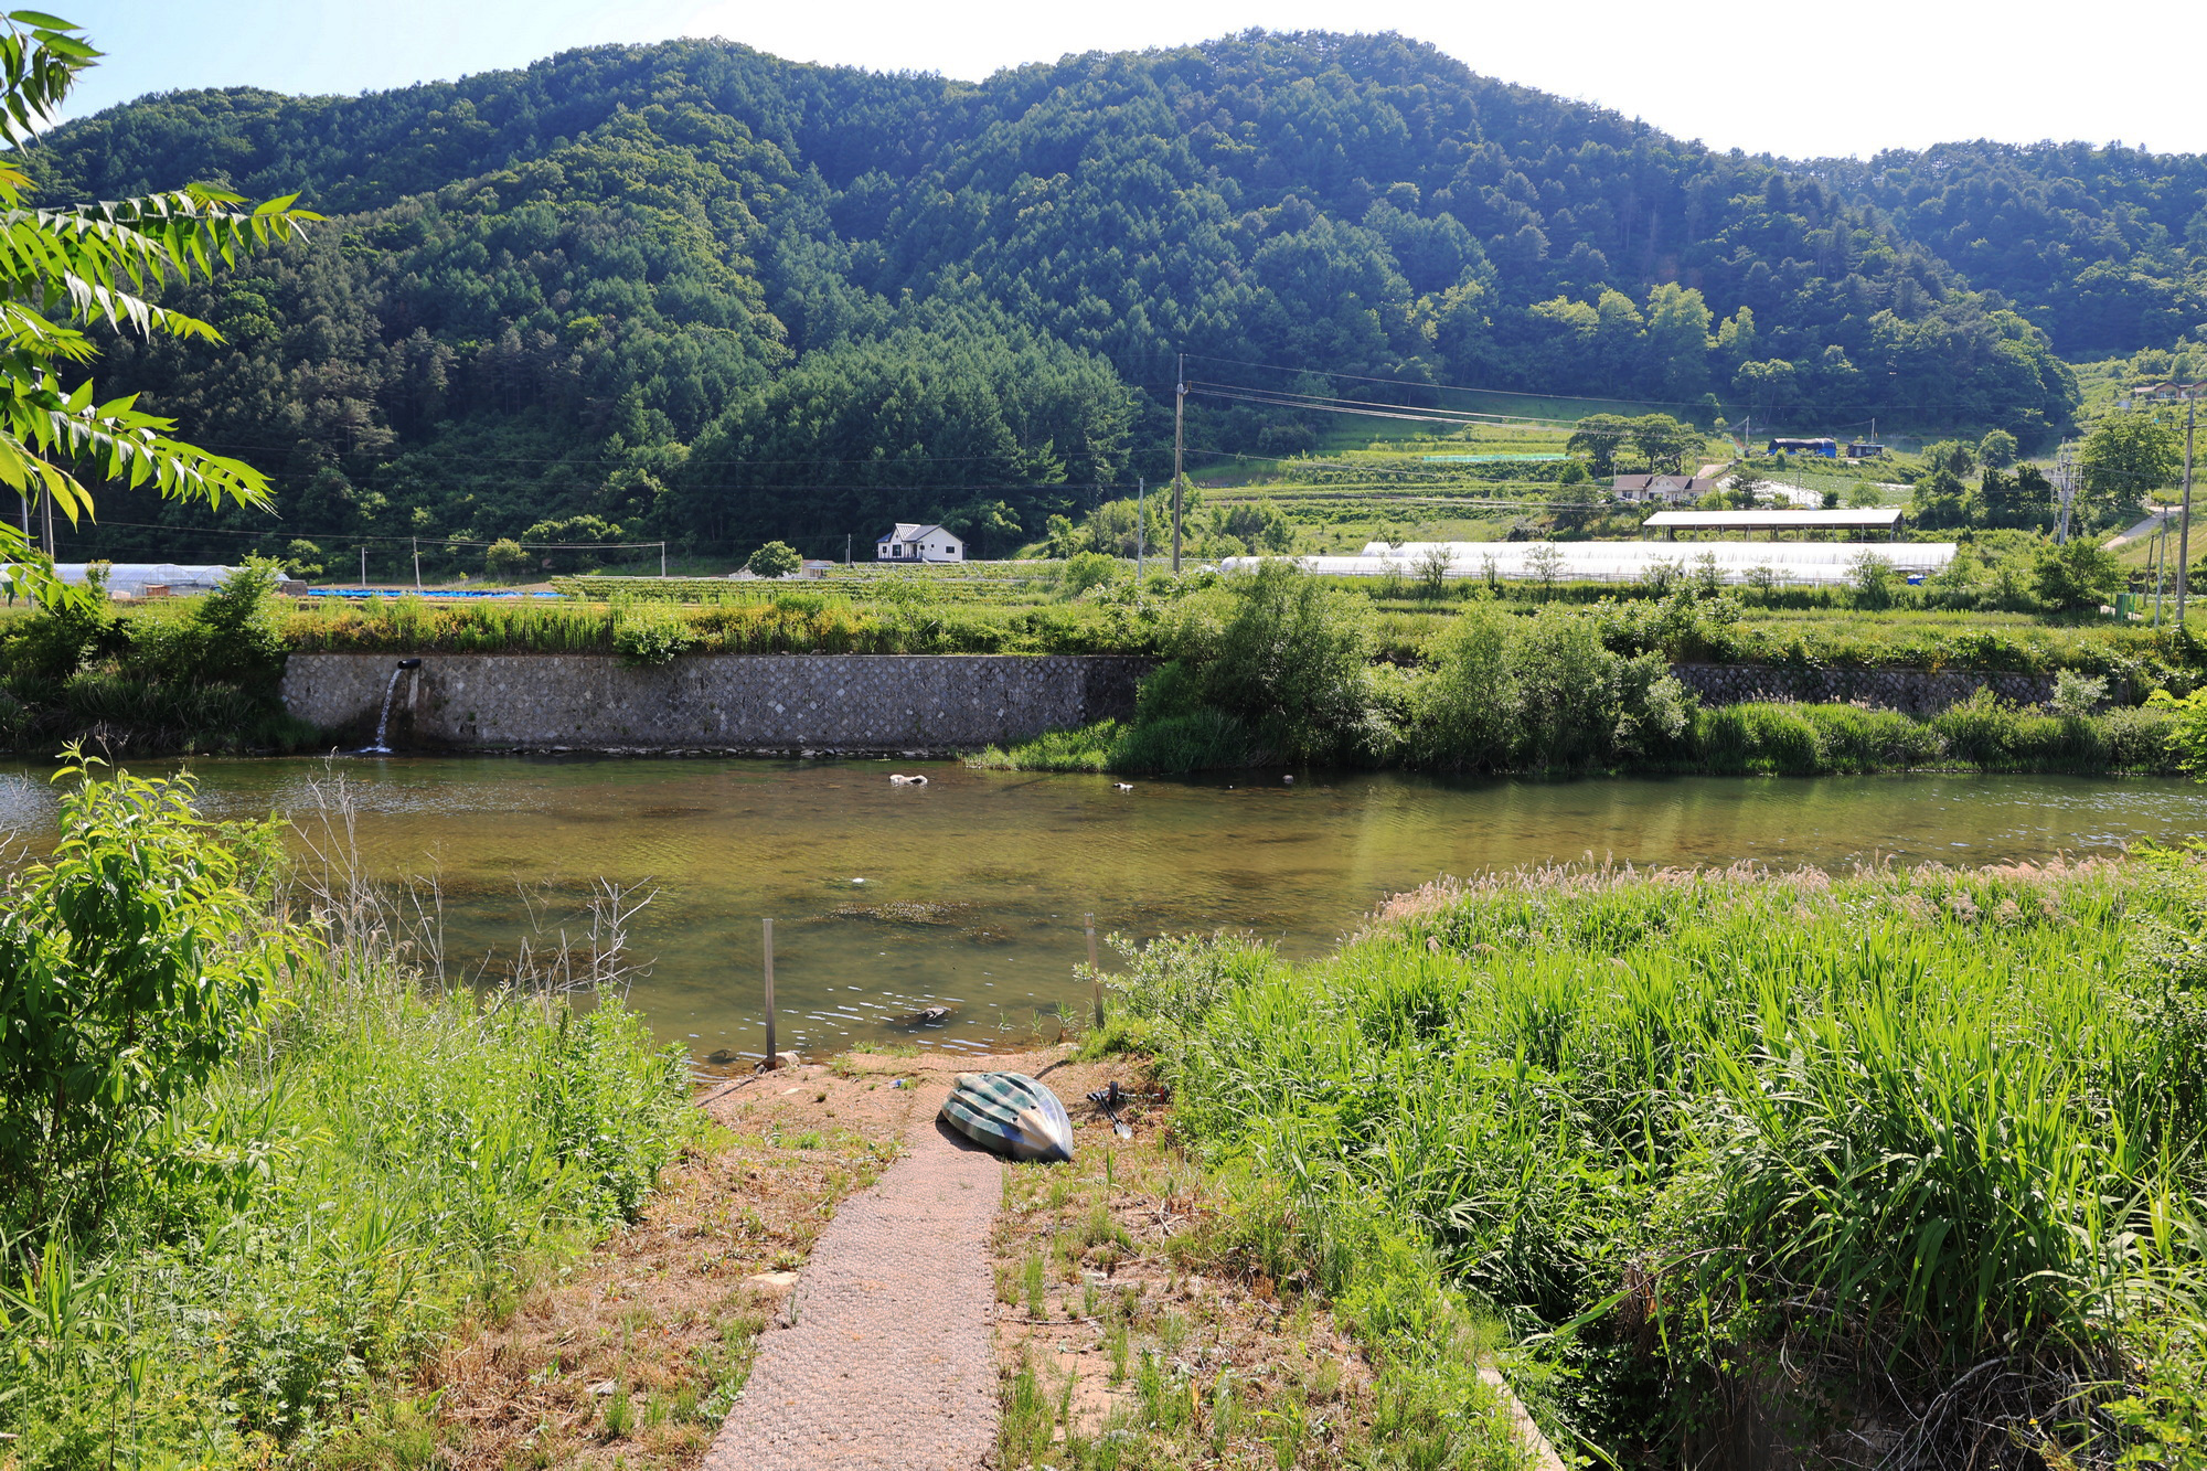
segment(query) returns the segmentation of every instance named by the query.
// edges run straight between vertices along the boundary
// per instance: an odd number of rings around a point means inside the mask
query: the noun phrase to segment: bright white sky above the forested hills
[[[801,62],[980,80],[1077,51],[1247,27],[1401,31],[1505,82],[1719,148],[1788,157],[1993,137],[2207,152],[2181,0],[44,0],[108,62],[71,115],[179,86],[360,93],[523,66],[567,46],[722,35]],[[2192,35],[2192,42],[2183,42]]]

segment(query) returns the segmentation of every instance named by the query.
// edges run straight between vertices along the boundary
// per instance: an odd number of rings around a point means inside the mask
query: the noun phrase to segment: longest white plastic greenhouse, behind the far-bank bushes
[[[1360,557],[1298,557],[1322,576],[1424,576],[1437,557],[1443,576],[1510,581],[1633,583],[1655,568],[1697,572],[1715,565],[1728,583],[1852,583],[1865,557],[1900,576],[1931,576],[1953,561],[1953,541],[1371,541]],[[1258,557],[1227,557],[1220,570],[1245,572]]]

